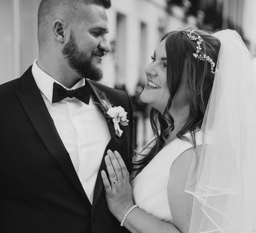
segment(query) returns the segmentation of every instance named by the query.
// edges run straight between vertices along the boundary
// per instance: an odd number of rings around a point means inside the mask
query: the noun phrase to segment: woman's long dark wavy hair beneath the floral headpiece
[[[194,28],[188,29],[194,30]],[[169,110],[172,105],[172,99],[180,85],[183,72],[185,72],[185,92],[189,103],[189,115],[176,136],[182,140],[190,141],[194,147],[196,145],[193,135],[195,131],[201,128],[213,86],[214,74],[211,73],[209,62],[194,57],[193,53],[196,53],[197,41],[189,39],[187,35],[188,29],[169,32],[162,38],[162,40],[166,39],[166,85],[170,98],[163,115],[154,108],[150,109],[149,117],[155,140],[144,148],[144,150],[149,148],[149,152],[144,154],[142,151],[144,157],[139,161],[133,162],[133,165],[136,165],[133,170],[143,169],[163,148],[169,133],[174,130],[174,119]],[[206,54],[217,63],[220,41],[206,31],[195,30],[193,35],[194,33],[200,35],[203,39],[201,53]],[[167,122],[170,126],[168,126]],[[184,136],[187,132],[191,132],[192,139]]]

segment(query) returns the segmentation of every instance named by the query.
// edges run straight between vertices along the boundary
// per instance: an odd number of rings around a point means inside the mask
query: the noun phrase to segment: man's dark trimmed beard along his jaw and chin
[[[104,51],[98,51],[97,53],[104,56]],[[62,49],[62,55],[68,65],[82,78],[96,82],[102,79],[102,70],[93,64],[93,61],[88,54],[78,48],[75,35],[72,30],[70,31],[70,38],[67,44]]]

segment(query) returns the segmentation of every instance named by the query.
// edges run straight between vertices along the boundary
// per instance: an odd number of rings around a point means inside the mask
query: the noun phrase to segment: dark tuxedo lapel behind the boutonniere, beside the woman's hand
[[[96,88],[90,82],[89,82],[89,85],[91,86],[91,93],[92,93],[93,98],[96,102],[101,103],[101,100],[104,100],[104,99],[107,100],[107,97],[106,97],[106,95],[103,91],[100,91],[98,88]],[[99,106],[99,108],[102,112],[102,109],[101,109],[100,106]],[[107,155],[107,150],[110,149],[112,151],[114,151],[114,150],[118,151],[122,146],[122,143],[120,141],[120,137],[115,135],[113,121],[112,120],[107,121],[107,125],[108,125],[108,129],[109,129],[109,132],[110,132],[111,139],[110,139],[109,143],[106,146],[106,149],[104,151],[102,161],[101,161],[101,164],[100,164],[100,168],[99,168],[99,171],[98,171],[98,175],[97,175],[97,179],[96,179],[96,183],[95,183],[95,188],[94,188],[94,194],[93,194],[92,212],[93,212],[95,204],[96,204],[96,202],[97,202],[97,200],[100,196],[100,193],[102,191],[103,183],[102,183],[102,178],[101,178],[101,171],[102,170],[107,171],[105,160],[104,160],[105,155]]]

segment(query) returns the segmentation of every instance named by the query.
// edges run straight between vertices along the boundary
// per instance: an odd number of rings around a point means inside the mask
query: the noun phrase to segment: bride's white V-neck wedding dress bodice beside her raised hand
[[[185,134],[188,137],[190,135],[190,133]],[[196,143],[201,144],[200,131],[195,133],[195,138]],[[167,196],[170,169],[175,159],[192,147],[192,143],[176,138],[162,148],[150,163],[134,179],[131,179],[133,200],[139,208],[164,222],[173,223]],[[136,161],[142,156],[137,156]],[[130,177],[134,177],[135,173],[136,171],[132,172]]]

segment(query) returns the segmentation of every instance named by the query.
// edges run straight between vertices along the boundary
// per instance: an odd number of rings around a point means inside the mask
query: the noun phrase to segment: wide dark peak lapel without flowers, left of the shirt
[[[31,67],[20,78],[20,84],[21,92],[17,92],[17,96],[40,138],[70,181],[88,200],[76,174],[69,153],[57,132],[40,90],[36,86],[31,73]]]

